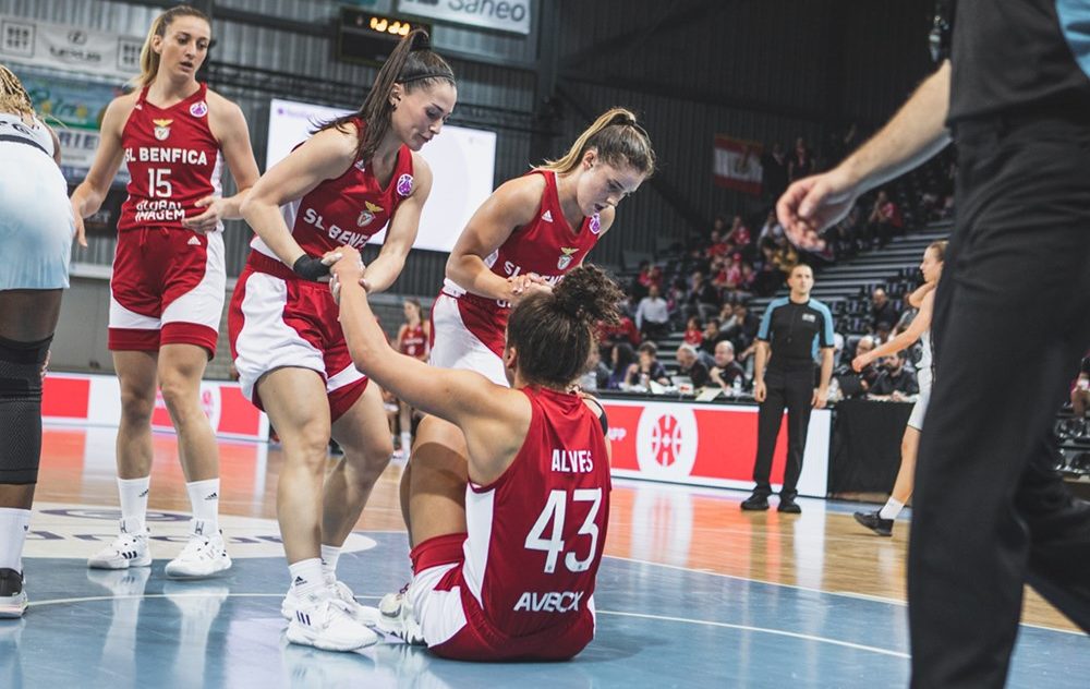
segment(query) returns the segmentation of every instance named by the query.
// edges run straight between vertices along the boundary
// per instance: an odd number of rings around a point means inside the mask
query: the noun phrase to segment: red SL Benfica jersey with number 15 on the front
[[[201,84],[189,98],[160,108],[147,101],[147,86],[141,90],[121,131],[130,181],[118,230],[182,229],[182,218],[204,213],[197,201],[222,193],[222,158],[208,126],[207,94]]]

